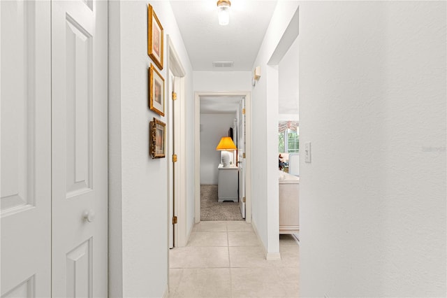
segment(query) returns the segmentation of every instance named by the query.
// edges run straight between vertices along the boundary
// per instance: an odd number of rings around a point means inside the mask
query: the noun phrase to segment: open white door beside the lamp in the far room
[[[239,104],[239,129],[237,129],[237,152],[239,155],[239,208],[245,218],[245,99]]]

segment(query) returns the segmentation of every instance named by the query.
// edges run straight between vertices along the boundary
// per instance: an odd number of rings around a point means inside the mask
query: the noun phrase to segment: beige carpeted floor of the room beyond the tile
[[[242,220],[239,203],[218,203],[217,185],[200,185],[200,220]]]

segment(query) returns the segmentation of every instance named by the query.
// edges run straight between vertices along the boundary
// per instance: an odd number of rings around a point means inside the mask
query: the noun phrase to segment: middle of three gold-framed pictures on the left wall
[[[149,68],[149,108],[159,115],[165,115],[165,79],[154,64]]]

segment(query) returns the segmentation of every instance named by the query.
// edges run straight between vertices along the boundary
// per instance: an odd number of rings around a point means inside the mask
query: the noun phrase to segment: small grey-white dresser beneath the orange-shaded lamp
[[[234,201],[237,202],[237,185],[239,168],[237,166],[223,167],[219,164],[217,168],[218,173],[218,185],[217,185],[217,197],[218,202]]]

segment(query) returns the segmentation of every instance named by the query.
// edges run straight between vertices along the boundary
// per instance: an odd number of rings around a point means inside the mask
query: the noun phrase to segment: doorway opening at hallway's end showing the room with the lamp
[[[244,176],[243,102],[244,97],[200,97],[201,221],[245,218],[244,179],[238,179]]]

